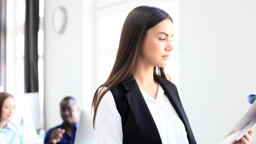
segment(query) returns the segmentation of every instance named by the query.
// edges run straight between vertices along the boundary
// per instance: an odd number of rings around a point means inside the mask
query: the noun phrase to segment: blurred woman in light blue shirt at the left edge
[[[17,126],[11,123],[15,101],[9,93],[0,93],[0,144],[23,144],[23,137]]]

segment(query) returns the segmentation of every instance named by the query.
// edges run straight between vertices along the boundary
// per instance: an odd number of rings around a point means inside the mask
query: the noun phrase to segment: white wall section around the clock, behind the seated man
[[[53,30],[53,10],[65,7],[64,33]],[[45,0],[44,14],[44,116],[45,129],[62,123],[60,101],[67,95],[83,104],[83,1]]]

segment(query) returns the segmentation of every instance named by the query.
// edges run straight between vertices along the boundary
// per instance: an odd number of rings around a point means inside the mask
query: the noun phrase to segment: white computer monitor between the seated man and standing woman
[[[96,144],[90,111],[81,110],[74,144]]]

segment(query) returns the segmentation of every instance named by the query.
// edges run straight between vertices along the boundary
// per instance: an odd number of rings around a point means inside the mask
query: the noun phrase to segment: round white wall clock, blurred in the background
[[[53,29],[57,33],[63,33],[66,26],[66,12],[63,7],[57,7],[53,12]]]

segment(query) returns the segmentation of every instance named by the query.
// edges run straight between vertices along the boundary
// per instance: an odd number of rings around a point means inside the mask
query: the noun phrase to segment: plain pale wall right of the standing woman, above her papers
[[[250,107],[246,97],[256,91],[255,5],[179,1],[180,95],[198,144],[219,142]]]

